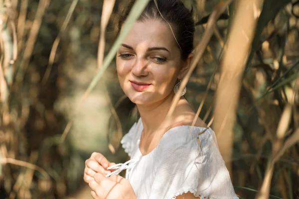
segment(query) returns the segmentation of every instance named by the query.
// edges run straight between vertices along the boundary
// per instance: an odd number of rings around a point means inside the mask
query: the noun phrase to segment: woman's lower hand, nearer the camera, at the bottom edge
[[[119,175],[105,177],[97,173],[94,179],[88,184],[94,199],[136,199],[130,182]]]

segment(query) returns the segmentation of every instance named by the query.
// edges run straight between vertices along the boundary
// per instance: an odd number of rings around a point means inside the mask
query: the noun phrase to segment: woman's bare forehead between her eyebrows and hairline
[[[169,26],[158,20],[137,21],[127,35],[124,43],[136,48],[140,44],[149,46],[176,47],[174,36]]]

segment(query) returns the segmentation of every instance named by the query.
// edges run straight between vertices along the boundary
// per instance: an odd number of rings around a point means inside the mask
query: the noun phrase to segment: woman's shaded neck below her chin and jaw
[[[165,99],[153,104],[137,105],[142,118],[145,134],[151,134],[163,126],[165,127],[170,125],[168,124],[169,122],[164,121],[164,119],[171,106],[173,98],[174,94],[169,94],[169,96],[167,96]]]

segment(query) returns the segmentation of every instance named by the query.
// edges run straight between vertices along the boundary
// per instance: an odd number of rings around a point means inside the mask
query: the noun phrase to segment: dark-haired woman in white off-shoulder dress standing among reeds
[[[94,199],[238,199],[214,132],[200,118],[191,127],[189,103],[181,97],[165,118],[193,58],[194,21],[179,0],[156,1],[149,1],[116,58],[120,85],[141,115],[121,141],[131,160],[115,165],[93,153],[84,180]],[[123,169],[126,179],[117,175]]]

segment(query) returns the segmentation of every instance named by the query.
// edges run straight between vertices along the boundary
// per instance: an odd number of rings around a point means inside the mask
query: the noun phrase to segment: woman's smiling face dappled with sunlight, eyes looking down
[[[116,58],[121,87],[136,104],[151,104],[173,95],[182,65],[169,26],[157,20],[135,22]]]

